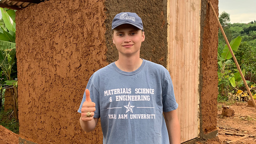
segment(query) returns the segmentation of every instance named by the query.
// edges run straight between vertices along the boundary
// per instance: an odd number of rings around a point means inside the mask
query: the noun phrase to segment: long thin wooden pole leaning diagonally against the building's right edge
[[[237,69],[238,69],[240,75],[242,76],[243,83],[244,83],[244,85],[245,85],[245,87],[246,87],[246,89],[247,89],[247,92],[249,93],[249,95],[250,95],[250,97],[251,97],[251,99],[252,99],[252,103],[253,103],[253,105],[254,105],[254,108],[256,109],[256,103],[255,103],[255,101],[254,101],[254,99],[253,99],[253,97],[252,97],[252,93],[251,93],[251,91],[250,91],[250,89],[249,89],[249,87],[248,87],[248,85],[247,85],[247,83],[246,83],[246,80],[245,80],[245,78],[244,78],[244,76],[243,76],[243,73],[242,73],[242,71],[241,71],[241,69],[240,69],[240,66],[239,66],[239,64],[238,64],[238,62],[237,62],[237,59],[236,59],[236,57],[235,57],[235,55],[234,55],[234,53],[233,53],[233,50],[231,49],[231,47],[230,47],[230,45],[229,45],[228,39],[227,39],[227,37],[226,37],[226,35],[225,35],[225,32],[224,32],[222,26],[220,25],[219,18],[218,18],[217,14],[216,14],[216,12],[215,12],[213,6],[212,6],[212,3],[211,3],[210,1],[208,1],[208,3],[209,3],[210,6],[211,6],[211,10],[213,11],[213,14],[214,14],[214,16],[215,16],[215,18],[216,18],[216,20],[217,20],[217,22],[218,22],[218,24],[219,24],[220,30],[221,30],[221,32],[222,32],[222,35],[223,35],[223,37],[224,37],[224,39],[225,39],[225,41],[226,41],[226,43],[227,43],[227,45],[228,45],[228,48],[229,48],[229,51],[230,51],[231,55],[232,55],[232,57],[233,57],[233,59],[234,59],[234,61],[235,61],[235,63],[236,63]]]

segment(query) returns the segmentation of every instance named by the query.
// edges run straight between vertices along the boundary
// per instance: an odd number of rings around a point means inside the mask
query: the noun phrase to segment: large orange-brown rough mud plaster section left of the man
[[[16,12],[20,137],[102,143],[77,112],[90,76],[107,65],[103,0],[50,0]],[[98,124],[99,126],[99,124]]]

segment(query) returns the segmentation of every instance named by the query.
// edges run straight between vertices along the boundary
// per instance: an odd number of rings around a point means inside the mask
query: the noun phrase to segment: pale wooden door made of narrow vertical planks
[[[181,141],[199,134],[200,0],[168,0],[168,66],[173,80]]]

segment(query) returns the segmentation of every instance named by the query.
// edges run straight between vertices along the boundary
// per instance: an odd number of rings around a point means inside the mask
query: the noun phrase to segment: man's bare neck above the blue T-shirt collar
[[[115,62],[115,65],[122,71],[133,72],[141,66],[142,62],[143,60],[139,55],[124,57],[119,54],[119,59]]]

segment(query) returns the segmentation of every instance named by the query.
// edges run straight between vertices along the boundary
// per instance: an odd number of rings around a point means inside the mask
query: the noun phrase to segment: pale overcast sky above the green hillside
[[[219,0],[219,14],[230,14],[230,23],[249,23],[256,20],[256,0]]]

